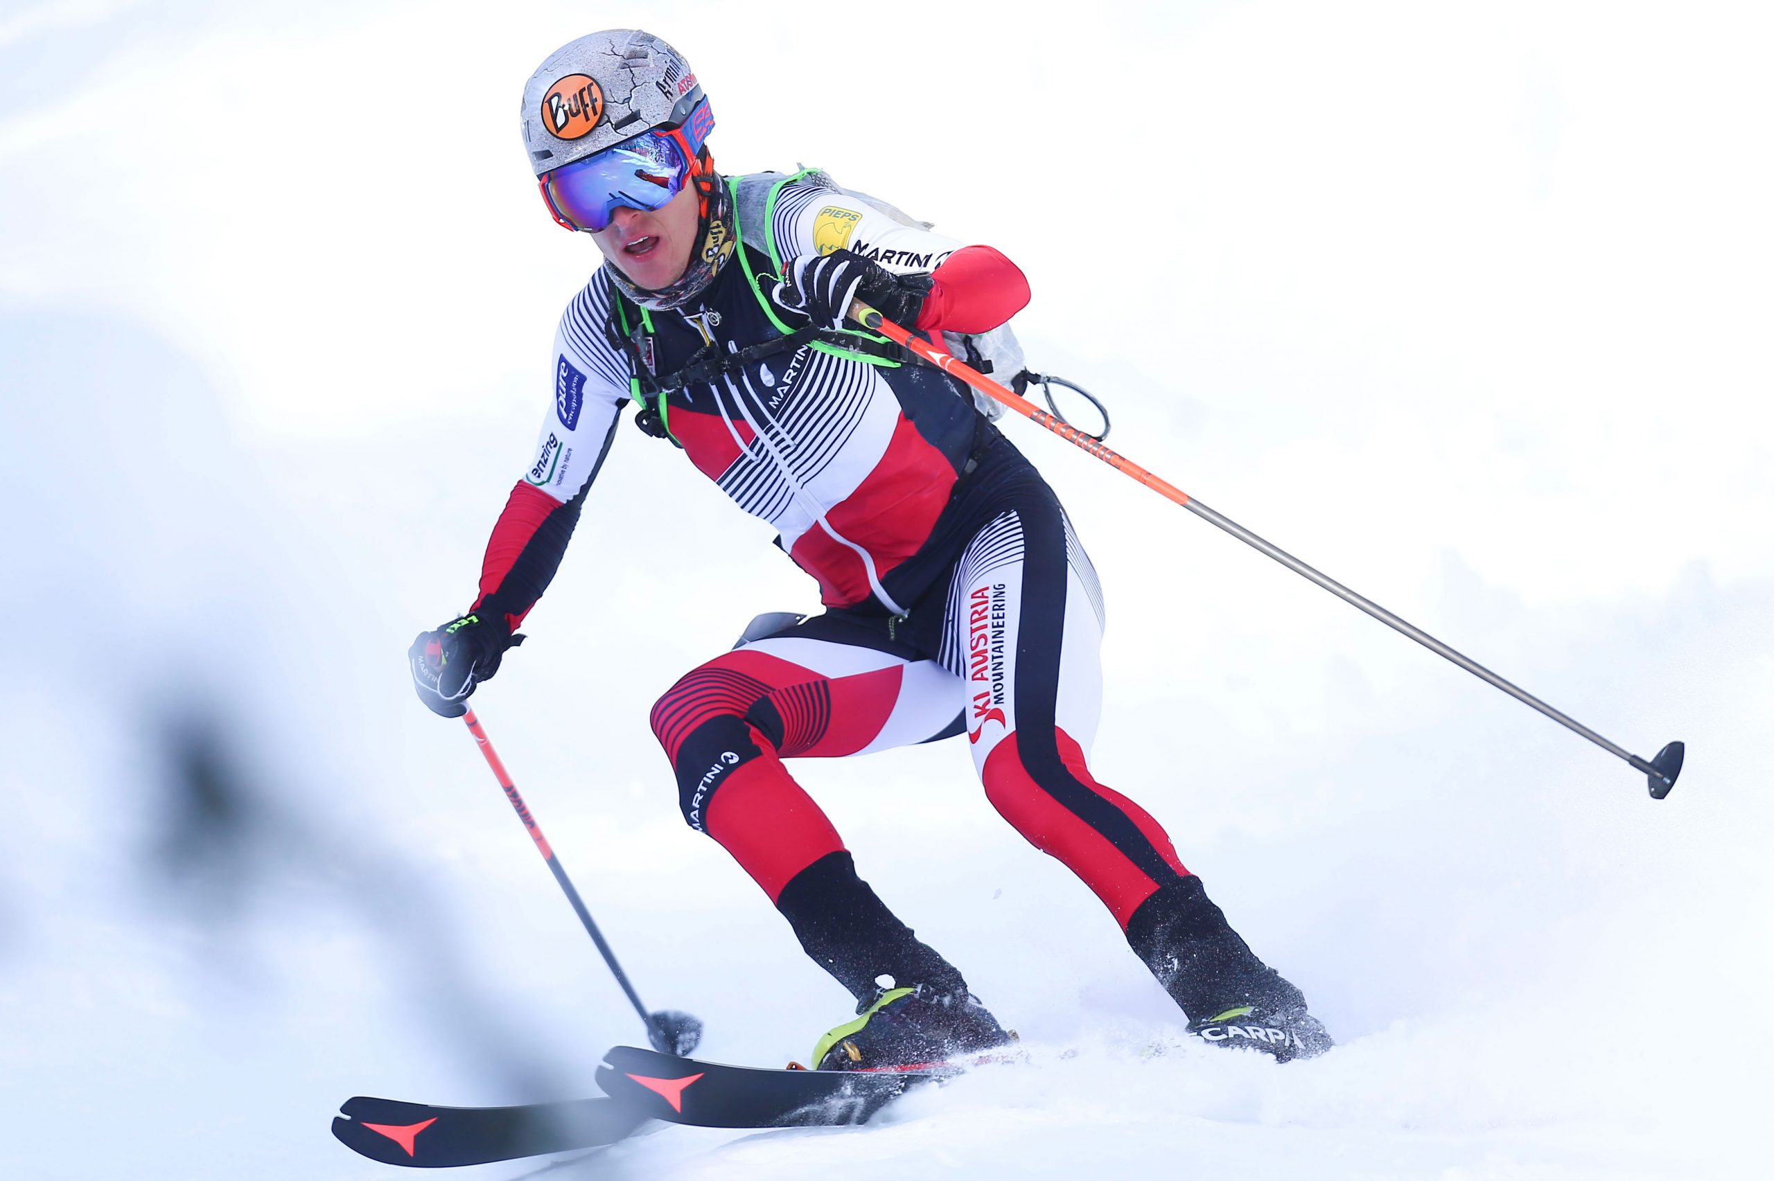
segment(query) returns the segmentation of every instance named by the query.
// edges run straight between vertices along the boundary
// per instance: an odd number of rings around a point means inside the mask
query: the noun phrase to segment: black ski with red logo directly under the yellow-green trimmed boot
[[[651,1119],[699,1128],[860,1124],[908,1087],[954,1071],[793,1071],[720,1066],[616,1046],[598,1085]]]

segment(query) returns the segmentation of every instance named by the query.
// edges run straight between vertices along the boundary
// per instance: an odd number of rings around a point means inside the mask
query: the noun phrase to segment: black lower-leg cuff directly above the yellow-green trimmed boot
[[[857,1000],[875,995],[875,977],[965,993],[967,981],[926,947],[857,876],[850,853],[827,853],[800,871],[777,896],[777,910],[795,927],[802,950],[837,977]]]

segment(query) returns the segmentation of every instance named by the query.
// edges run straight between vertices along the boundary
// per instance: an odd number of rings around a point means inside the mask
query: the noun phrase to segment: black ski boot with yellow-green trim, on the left
[[[857,1005],[857,1020],[830,1030],[812,1048],[820,1071],[892,1071],[940,1066],[956,1055],[1017,1041],[969,991],[944,993],[928,984],[894,988],[889,975],[875,997]]]

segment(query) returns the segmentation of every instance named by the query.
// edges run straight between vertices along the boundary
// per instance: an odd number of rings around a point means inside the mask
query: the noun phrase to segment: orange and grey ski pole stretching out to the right
[[[1361,594],[1355,594],[1354,590],[1350,590],[1343,583],[1336,582],[1334,578],[1329,578],[1327,575],[1322,575],[1320,571],[1313,569],[1311,566],[1307,566],[1306,562],[1299,560],[1291,553],[1281,550],[1279,546],[1274,546],[1274,544],[1263,541],[1261,537],[1258,537],[1256,534],[1252,534],[1249,528],[1238,525],[1236,521],[1233,521],[1233,520],[1229,520],[1226,516],[1221,516],[1219,512],[1215,512],[1213,509],[1206,507],[1205,504],[1201,504],[1199,500],[1196,500],[1194,497],[1190,497],[1183,489],[1176,488],[1174,484],[1169,484],[1167,481],[1158,479],[1157,475],[1153,475],[1146,468],[1139,466],[1132,459],[1125,459],[1123,456],[1118,456],[1111,449],[1103,447],[1102,440],[1098,440],[1098,438],[1095,438],[1091,434],[1086,434],[1084,431],[1077,429],[1075,426],[1070,426],[1068,422],[1064,422],[1064,420],[1050,415],[1048,411],[1041,410],[1040,406],[1036,406],[1029,399],[1013,394],[1011,390],[1004,388],[1002,385],[999,385],[992,378],[986,378],[979,371],[976,371],[976,369],[972,369],[972,367],[969,367],[969,365],[954,360],[953,356],[949,356],[947,353],[944,353],[940,349],[931,348],[930,342],[917,339],[915,335],[912,335],[910,332],[907,332],[899,325],[892,323],[891,319],[887,319],[885,316],[882,316],[878,310],[875,310],[873,307],[869,307],[862,300],[852,300],[850,301],[850,310],[846,314],[850,316],[850,319],[857,321],[859,325],[862,325],[869,332],[878,332],[878,333],[885,335],[889,340],[894,340],[896,344],[910,349],[912,353],[915,353],[917,356],[924,358],[931,365],[937,365],[938,369],[942,369],[944,372],[947,372],[947,374],[951,374],[954,378],[960,378],[962,381],[965,381],[967,385],[974,387],[976,390],[979,390],[986,397],[992,397],[992,399],[995,399],[995,401],[1009,406],[1011,410],[1015,410],[1017,413],[1020,413],[1024,418],[1031,418],[1031,420],[1038,422],[1040,426],[1047,427],[1048,431],[1052,431],[1059,438],[1063,438],[1068,443],[1073,443],[1075,447],[1082,449],[1086,454],[1096,456],[1098,459],[1102,459],[1103,463],[1107,463],[1116,472],[1139,481],[1141,484],[1144,484],[1146,488],[1153,489],[1155,493],[1158,493],[1166,500],[1174,500],[1176,504],[1183,505],[1185,509],[1189,509],[1196,516],[1203,518],[1205,521],[1208,521],[1212,525],[1217,525],[1219,528],[1224,528],[1228,534],[1231,534],[1238,541],[1245,543],[1247,546],[1252,546],[1254,550],[1260,550],[1261,553],[1267,553],[1268,557],[1276,559],[1277,562],[1281,562],[1283,566],[1286,566],[1288,569],[1291,569],[1295,575],[1300,575],[1302,578],[1307,578],[1307,580],[1318,583],[1320,587],[1323,587],[1330,594],[1338,596],[1345,603],[1368,612],[1370,615],[1373,615],[1375,619],[1378,619],[1380,622],[1384,622],[1387,628],[1393,628],[1394,631],[1409,635],[1412,640],[1416,640],[1423,647],[1430,649],[1437,656],[1451,660],[1453,663],[1460,665],[1462,669],[1465,669],[1472,676],[1476,676],[1481,681],[1487,681],[1492,686],[1503,690],[1504,693],[1508,693],[1515,700],[1522,702],[1524,706],[1533,706],[1535,709],[1538,709],[1545,716],[1552,718],[1559,725],[1563,725],[1563,727],[1566,727],[1566,729],[1570,729],[1570,731],[1574,731],[1577,734],[1582,734],[1584,738],[1588,738],[1591,743],[1595,743],[1597,747],[1600,747],[1607,754],[1611,754],[1611,755],[1614,755],[1618,759],[1625,759],[1629,764],[1632,764],[1632,768],[1636,771],[1643,771],[1644,773],[1644,780],[1646,780],[1646,784],[1650,786],[1650,791],[1652,791],[1652,800],[1662,800],[1664,796],[1669,794],[1669,789],[1675,787],[1675,777],[1682,773],[1682,754],[1684,754],[1682,743],[1668,743],[1662,750],[1657,752],[1657,757],[1650,759],[1650,761],[1641,759],[1636,754],[1630,754],[1629,750],[1625,750],[1621,747],[1616,747],[1614,743],[1607,741],[1605,738],[1602,738],[1600,734],[1597,734],[1590,727],[1582,725],[1581,722],[1577,722],[1574,718],[1565,716],[1563,713],[1559,713],[1552,706],[1545,704],[1543,700],[1540,700],[1533,693],[1529,693],[1529,692],[1526,692],[1526,690],[1522,690],[1522,688],[1519,688],[1519,686],[1504,681],[1503,677],[1499,677],[1495,672],[1492,672],[1490,669],[1483,667],[1476,660],[1462,656],[1455,649],[1448,647],[1446,644],[1442,644],[1440,640],[1437,640],[1435,637],[1432,637],[1428,631],[1423,631],[1421,628],[1416,628],[1416,626],[1405,622],[1403,619],[1400,619],[1393,612],[1385,610],[1384,606],[1380,606],[1373,599],[1368,599],[1368,598],[1364,598]]]

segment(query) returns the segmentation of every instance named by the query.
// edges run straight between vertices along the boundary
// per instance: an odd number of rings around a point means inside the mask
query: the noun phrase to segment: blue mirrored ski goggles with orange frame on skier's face
[[[697,153],[715,126],[703,99],[676,128],[655,128],[601,153],[543,172],[538,186],[548,213],[569,231],[598,232],[617,209],[663,209],[695,172]]]

